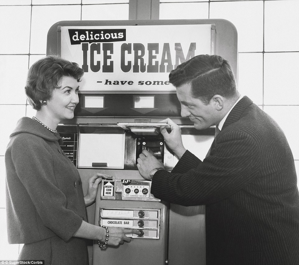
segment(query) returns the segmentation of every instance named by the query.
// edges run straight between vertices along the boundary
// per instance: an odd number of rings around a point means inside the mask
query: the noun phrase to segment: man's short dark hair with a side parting
[[[175,87],[190,83],[192,95],[209,104],[214,95],[231,98],[237,91],[229,62],[218,55],[197,55],[169,74]]]

